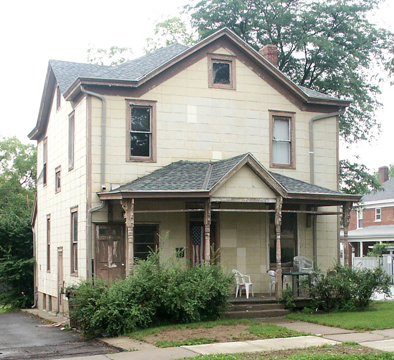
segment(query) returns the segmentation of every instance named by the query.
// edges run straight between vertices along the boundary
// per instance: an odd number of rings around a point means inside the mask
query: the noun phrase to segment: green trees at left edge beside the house
[[[36,150],[16,137],[0,140],[0,303],[27,306],[33,300],[30,226],[35,193]]]

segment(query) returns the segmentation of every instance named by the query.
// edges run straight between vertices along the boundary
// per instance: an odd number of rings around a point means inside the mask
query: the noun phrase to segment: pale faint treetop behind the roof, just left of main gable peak
[[[193,34],[187,30],[186,24],[180,17],[172,17],[167,20],[156,22],[154,37],[146,39],[145,52],[155,51],[160,47],[180,42],[184,45],[192,45],[196,42]]]

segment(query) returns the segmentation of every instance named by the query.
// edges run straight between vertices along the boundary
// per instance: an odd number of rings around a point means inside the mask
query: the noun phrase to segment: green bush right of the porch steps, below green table
[[[318,279],[310,287],[314,308],[332,310],[366,310],[372,294],[377,291],[390,295],[390,278],[381,267],[375,269],[351,268],[335,265],[335,274],[326,275],[316,271]]]

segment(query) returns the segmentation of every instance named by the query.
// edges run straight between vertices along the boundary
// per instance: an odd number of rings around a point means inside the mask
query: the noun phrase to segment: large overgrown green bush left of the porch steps
[[[220,264],[160,263],[160,252],[154,251],[126,279],[82,281],[69,299],[70,316],[90,335],[119,335],[163,321],[214,319],[226,305],[233,281]]]

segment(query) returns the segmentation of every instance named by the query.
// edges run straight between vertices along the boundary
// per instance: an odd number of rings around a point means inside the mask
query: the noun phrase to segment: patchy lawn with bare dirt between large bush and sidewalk
[[[188,324],[149,327],[127,334],[159,347],[199,345],[212,342],[244,341],[306,335],[252,319],[219,319]]]

